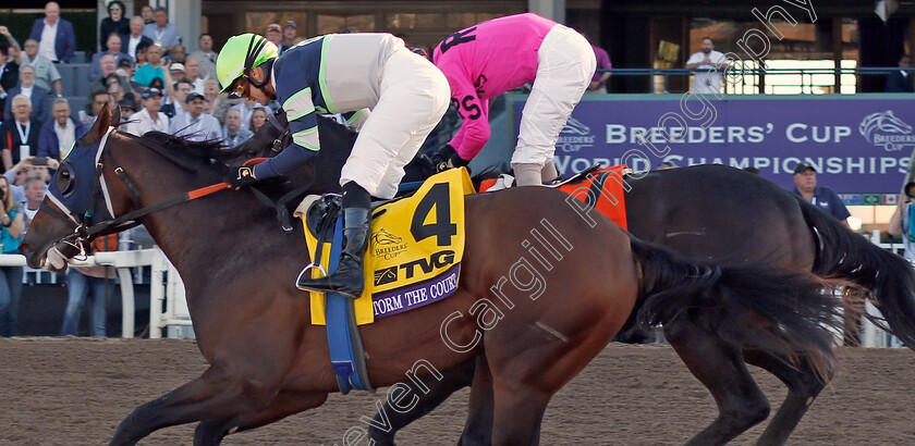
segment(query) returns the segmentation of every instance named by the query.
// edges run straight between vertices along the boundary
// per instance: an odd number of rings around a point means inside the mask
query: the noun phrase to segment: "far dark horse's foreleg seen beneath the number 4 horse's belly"
[[[419,396],[419,402],[411,410],[399,410],[391,406],[390,401],[385,401],[385,412],[388,420],[383,420],[381,414],[375,416],[375,421],[368,429],[368,437],[371,438],[378,446],[390,446],[394,444],[394,435],[398,431],[405,428],[407,424],[416,421],[444,402],[453,393],[471,385],[474,380],[474,368],[476,361],[466,361],[454,369],[442,372],[442,379],[436,380],[435,376],[427,376],[423,380],[425,387],[420,388],[412,381],[403,384],[413,389],[414,395]],[[376,426],[390,425],[388,431],[378,429]]]

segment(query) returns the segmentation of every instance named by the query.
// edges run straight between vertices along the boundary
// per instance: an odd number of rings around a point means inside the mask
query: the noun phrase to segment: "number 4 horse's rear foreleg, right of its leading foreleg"
[[[194,430],[194,446],[219,445],[230,433],[270,424],[291,414],[316,408],[326,400],[327,394],[281,392],[264,410],[200,422]]]

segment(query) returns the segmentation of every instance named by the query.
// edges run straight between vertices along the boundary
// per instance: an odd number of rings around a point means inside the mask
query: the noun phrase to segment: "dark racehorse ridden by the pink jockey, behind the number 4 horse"
[[[265,156],[266,141],[278,135],[273,128],[264,128],[240,156]],[[355,133],[328,125],[321,137],[340,149],[352,147]],[[338,157],[342,165],[345,154]],[[339,172],[340,165],[328,172]],[[327,188],[333,190],[335,181],[329,175]],[[783,268],[850,281],[871,290],[868,298],[880,308],[889,327],[879,319],[871,318],[873,322],[889,329],[910,348],[915,346],[915,273],[908,263],[784,188],[722,165],[650,172],[639,179],[629,179],[627,184],[632,187],[625,194],[627,226],[636,237],[722,264],[771,261]],[[626,329],[632,325],[630,321]],[[804,364],[791,364],[788,358],[722,343],[696,325],[681,324],[675,330],[664,326],[664,335],[690,371],[709,388],[719,408],[718,419],[691,444],[725,443],[768,418],[769,401],[744,362],[769,371],[788,387],[788,396],[759,444],[784,443],[826,385]],[[371,438],[379,445],[393,444],[399,429],[431,411],[453,392],[471,385],[474,369],[475,364],[468,362],[446,373],[443,379],[423,384],[431,392],[417,392],[422,399],[411,411],[386,407],[390,420],[385,421],[390,422],[381,423],[378,418],[376,421],[390,429],[373,426]],[[723,382],[730,384],[722,385]],[[483,419],[468,420],[465,443],[488,435],[486,410],[480,411]]]

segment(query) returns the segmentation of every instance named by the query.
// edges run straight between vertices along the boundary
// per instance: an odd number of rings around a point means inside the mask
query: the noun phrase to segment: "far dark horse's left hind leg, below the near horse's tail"
[[[718,405],[718,418],[687,444],[728,443],[769,416],[769,402],[737,347],[685,319],[664,326],[664,335]]]

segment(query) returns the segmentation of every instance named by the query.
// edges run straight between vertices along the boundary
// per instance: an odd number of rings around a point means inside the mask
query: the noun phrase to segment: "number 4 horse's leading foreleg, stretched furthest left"
[[[240,380],[212,366],[200,377],[154,399],[121,422],[111,445],[133,445],[156,430],[231,417],[267,405],[279,384]]]

